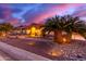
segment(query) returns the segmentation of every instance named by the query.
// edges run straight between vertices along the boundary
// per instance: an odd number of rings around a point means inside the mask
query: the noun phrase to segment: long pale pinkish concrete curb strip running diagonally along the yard
[[[50,61],[50,59],[44,57],[41,55],[37,55],[35,53],[25,51],[23,49],[10,46],[4,42],[0,42],[0,50],[8,53],[15,60],[20,60],[20,61]]]

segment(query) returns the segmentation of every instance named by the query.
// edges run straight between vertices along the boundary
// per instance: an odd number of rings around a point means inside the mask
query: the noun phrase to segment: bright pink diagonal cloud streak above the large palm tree
[[[54,16],[54,15],[60,15],[62,13],[65,13],[70,8],[77,8],[81,7],[82,4],[56,4],[52,8],[50,8],[48,11],[45,13],[39,14],[36,18],[34,18],[35,23],[41,23],[44,20]]]

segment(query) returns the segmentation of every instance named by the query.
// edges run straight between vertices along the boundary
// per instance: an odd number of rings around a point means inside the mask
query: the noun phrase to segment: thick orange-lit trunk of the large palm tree
[[[63,35],[62,30],[54,30],[54,42],[69,43],[71,41],[71,34]]]

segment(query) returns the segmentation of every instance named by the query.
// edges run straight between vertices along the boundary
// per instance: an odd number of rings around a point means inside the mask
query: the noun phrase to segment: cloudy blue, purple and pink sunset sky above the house
[[[0,23],[10,22],[13,25],[42,23],[54,15],[75,15],[86,20],[86,4],[75,3],[10,3],[0,4]]]

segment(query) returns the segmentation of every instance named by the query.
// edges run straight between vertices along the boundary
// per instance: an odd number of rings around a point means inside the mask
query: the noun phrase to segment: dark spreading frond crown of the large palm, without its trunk
[[[81,21],[78,16],[64,15],[49,18],[45,24],[45,29],[51,30],[64,30],[66,33],[78,33],[82,36],[86,36],[86,25],[84,21]]]

